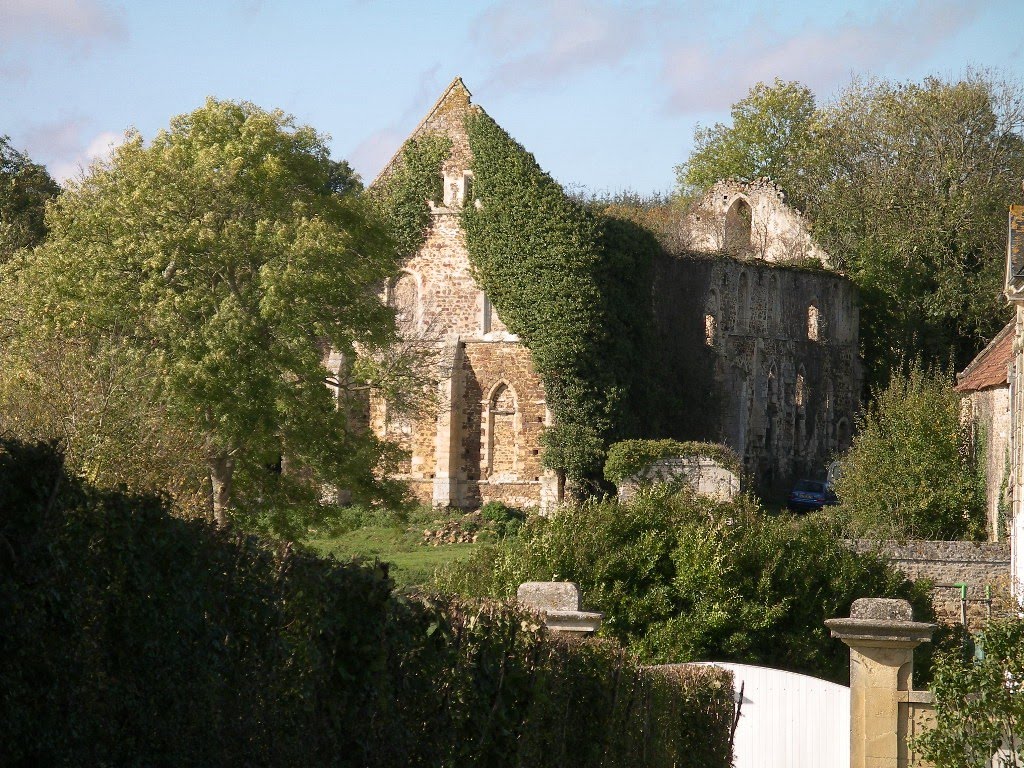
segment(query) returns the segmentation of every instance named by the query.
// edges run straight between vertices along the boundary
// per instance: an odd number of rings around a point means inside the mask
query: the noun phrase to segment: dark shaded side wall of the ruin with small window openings
[[[675,393],[656,436],[728,444],[765,496],[823,479],[849,447],[859,402],[853,284],[758,259],[667,256],[653,299],[664,387]]]

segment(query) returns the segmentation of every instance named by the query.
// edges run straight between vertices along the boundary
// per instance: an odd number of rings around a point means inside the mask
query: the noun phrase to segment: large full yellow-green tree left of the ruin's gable
[[[129,391],[198,436],[219,522],[280,530],[267,515],[315,506],[325,485],[394,490],[381,479],[393,456],[348,418],[359,393],[345,373],[395,338],[373,290],[395,252],[338,178],[311,128],[251,103],[208,99],[148,145],[130,133],[7,270],[7,365],[31,375],[40,337],[118,350]],[[349,361],[333,376],[328,348]]]

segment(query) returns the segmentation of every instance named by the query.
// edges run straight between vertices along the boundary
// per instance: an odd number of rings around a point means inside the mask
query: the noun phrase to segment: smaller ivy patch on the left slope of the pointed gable
[[[370,190],[400,257],[420,250],[430,225],[426,201],[443,196],[441,164],[452,151],[452,139],[438,133],[406,142],[398,162]]]

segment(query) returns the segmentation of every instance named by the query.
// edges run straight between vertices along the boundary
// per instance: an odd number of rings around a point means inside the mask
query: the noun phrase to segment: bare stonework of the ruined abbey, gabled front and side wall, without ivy
[[[475,202],[463,118],[478,109],[456,79],[412,134],[451,139],[443,199],[384,289],[402,333],[437,351],[437,408],[406,419],[374,400],[371,425],[409,452],[401,475],[423,502],[547,508],[562,489],[542,466],[544,384],[474,281],[460,226]],[[658,257],[650,297],[656,362],[678,381],[666,412],[680,416],[643,436],[724,442],[766,496],[823,477],[858,404],[856,290],[770,181],[720,182],[679,227],[685,246]]]

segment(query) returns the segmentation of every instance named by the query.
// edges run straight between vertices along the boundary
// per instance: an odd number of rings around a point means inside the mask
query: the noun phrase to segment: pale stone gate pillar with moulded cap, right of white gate
[[[850,768],[897,768],[900,702],[912,690],[913,649],[934,624],[913,621],[906,600],[855,600],[849,618],[825,622],[850,646]]]

